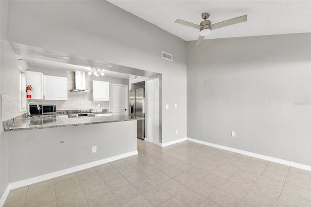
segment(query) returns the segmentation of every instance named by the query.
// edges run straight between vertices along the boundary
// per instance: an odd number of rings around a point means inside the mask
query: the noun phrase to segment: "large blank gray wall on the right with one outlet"
[[[188,42],[188,137],[310,166],[310,45],[311,34]]]

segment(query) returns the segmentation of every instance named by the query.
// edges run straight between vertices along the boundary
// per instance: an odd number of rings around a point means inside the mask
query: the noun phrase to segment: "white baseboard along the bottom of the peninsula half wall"
[[[34,184],[34,183],[37,183],[37,182],[44,181],[44,180],[52,179],[54,177],[58,177],[58,176],[62,176],[62,175],[65,175],[65,174],[69,174],[69,173],[74,173],[74,172],[77,172],[77,171],[85,170],[87,168],[91,168],[91,167],[94,167],[94,166],[97,166],[97,165],[102,165],[102,164],[107,163],[107,162],[112,162],[112,161],[115,161],[115,160],[118,160],[118,159],[122,159],[122,158],[125,158],[125,157],[128,157],[128,156],[137,155],[137,154],[138,154],[138,151],[135,150],[135,151],[132,151],[132,152],[129,152],[129,153],[124,153],[124,154],[121,154],[121,155],[111,156],[111,157],[104,158],[104,159],[101,159],[101,160],[96,160],[96,161],[93,161],[93,162],[89,162],[89,163],[86,163],[86,164],[83,164],[83,165],[78,165],[78,166],[75,166],[75,167],[72,167],[72,168],[67,168],[65,170],[56,171],[56,172],[48,173],[48,174],[44,174],[44,175],[39,175],[39,176],[28,178],[28,179],[25,179],[25,180],[20,180],[20,181],[14,182],[14,183],[10,183],[10,189],[16,189],[16,188],[19,188],[19,187],[22,187],[22,186],[27,186],[27,185],[30,185],[30,184]]]

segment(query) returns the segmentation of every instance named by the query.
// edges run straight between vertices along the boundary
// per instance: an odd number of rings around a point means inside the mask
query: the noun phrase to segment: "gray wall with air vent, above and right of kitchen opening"
[[[162,105],[179,105],[178,117],[162,111],[162,141],[176,139],[176,128],[187,136],[184,40],[106,1],[10,1],[9,25],[13,42],[162,73]]]

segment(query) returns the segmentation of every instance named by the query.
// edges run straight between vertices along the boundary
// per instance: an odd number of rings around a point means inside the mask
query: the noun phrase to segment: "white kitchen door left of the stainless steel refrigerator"
[[[109,111],[112,115],[128,115],[128,86],[109,85]]]

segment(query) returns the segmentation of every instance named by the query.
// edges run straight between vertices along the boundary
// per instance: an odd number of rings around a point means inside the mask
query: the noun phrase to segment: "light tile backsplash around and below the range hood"
[[[67,87],[68,90],[74,89],[74,72],[67,71]],[[86,73],[86,88],[91,88],[91,77]],[[57,110],[72,110],[72,109],[108,109],[109,102],[91,101],[92,92],[70,92],[68,91],[67,101],[51,101],[51,100],[31,100],[37,104],[56,105]],[[28,100],[30,102],[30,100]],[[100,106],[98,106],[100,104]]]

